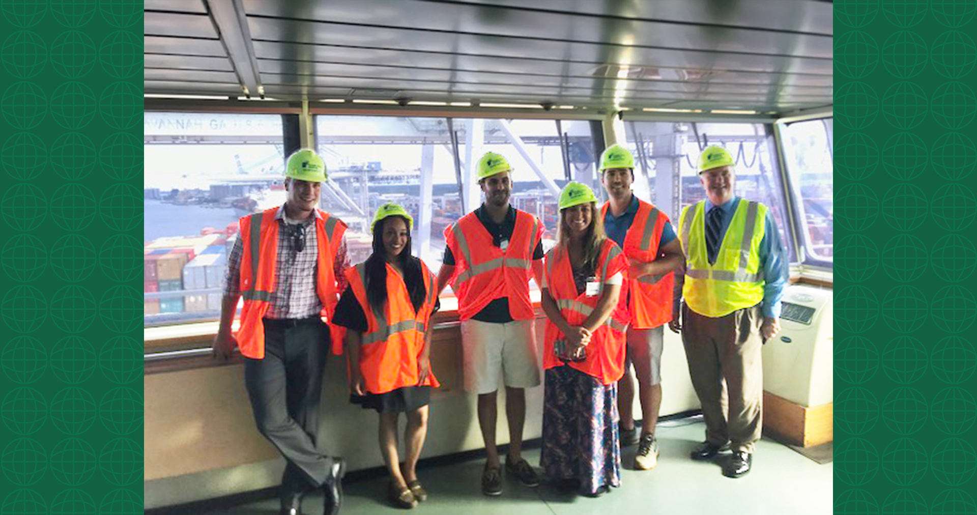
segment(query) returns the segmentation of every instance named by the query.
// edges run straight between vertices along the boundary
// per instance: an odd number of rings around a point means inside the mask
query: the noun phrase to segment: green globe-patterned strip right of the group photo
[[[975,14],[834,3],[835,513],[977,512]]]

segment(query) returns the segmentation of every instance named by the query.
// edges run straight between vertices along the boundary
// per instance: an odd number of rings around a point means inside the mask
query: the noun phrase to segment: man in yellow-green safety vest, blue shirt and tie
[[[675,278],[675,300],[684,303],[681,320],[669,326],[682,333],[705,419],[705,442],[691,457],[711,459],[729,444],[733,455],[723,474],[738,478],[749,472],[762,430],[760,349],[781,328],[787,256],[767,206],[733,193],[734,164],[722,147],[702,150],[699,179],[707,199],[679,218],[686,268]]]

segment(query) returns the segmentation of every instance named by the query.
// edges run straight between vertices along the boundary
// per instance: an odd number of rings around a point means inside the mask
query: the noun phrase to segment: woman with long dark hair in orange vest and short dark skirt
[[[413,219],[393,203],[373,218],[373,253],[347,270],[333,322],[347,327],[350,401],[380,414],[380,452],[390,472],[389,497],[412,508],[427,492],[417,459],[427,434],[431,388],[431,315],[438,309],[434,275],[410,255]],[[397,419],[405,413],[406,456],[398,453]]]

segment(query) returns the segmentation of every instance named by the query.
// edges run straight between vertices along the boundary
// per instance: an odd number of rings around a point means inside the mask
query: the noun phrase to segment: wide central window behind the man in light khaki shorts
[[[509,160],[510,202],[542,220],[544,250],[556,240],[560,189],[573,179],[600,191],[592,124],[586,120],[322,114],[315,127],[330,178],[323,209],[349,225],[354,264],[371,252],[375,210],[397,202],[414,217],[413,254],[437,272],[445,229],[482,203],[474,168],[486,151]],[[450,288],[442,306],[456,307]]]

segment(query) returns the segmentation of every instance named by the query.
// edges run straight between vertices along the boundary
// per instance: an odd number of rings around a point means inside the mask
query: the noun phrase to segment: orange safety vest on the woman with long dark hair
[[[360,373],[366,391],[384,394],[404,386],[417,386],[417,358],[424,349],[424,333],[430,330],[431,314],[438,300],[436,279],[422,261],[421,275],[427,296],[414,313],[404,278],[388,263],[387,303],[380,313],[366,300],[365,270],[365,263],[361,263],[347,269],[346,277],[366,316],[367,328],[360,342]],[[424,385],[437,388],[441,383],[431,372]]]

